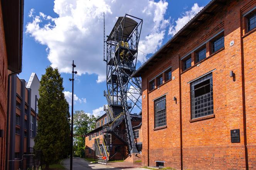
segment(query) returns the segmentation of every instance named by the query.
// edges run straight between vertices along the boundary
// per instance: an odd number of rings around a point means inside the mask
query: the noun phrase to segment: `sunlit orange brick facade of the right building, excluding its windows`
[[[256,168],[256,28],[247,31],[245,15],[255,6],[256,0],[227,0],[142,73],[143,165],[163,161],[165,167],[177,169]],[[213,53],[210,39],[217,33],[224,34],[224,48]],[[200,44],[206,48],[206,58],[196,63],[194,49]],[[183,70],[180,59],[187,54],[191,67]],[[172,80],[163,80],[156,88],[155,77],[170,67]],[[190,82],[211,71],[213,115],[192,119]],[[153,78],[155,89],[149,92]],[[167,125],[154,128],[153,100],[162,95]],[[240,130],[240,143],[231,143],[233,129]]]

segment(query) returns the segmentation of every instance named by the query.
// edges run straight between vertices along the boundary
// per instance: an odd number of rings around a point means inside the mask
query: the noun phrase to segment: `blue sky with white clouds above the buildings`
[[[64,80],[65,95],[72,90],[71,63],[79,75],[74,81],[74,110],[100,115],[106,99],[106,63],[103,61],[103,12],[106,35],[116,17],[125,13],[143,19],[138,65],[167,42],[210,0],[25,0],[22,73],[29,80],[39,79],[49,65],[58,67]],[[181,3],[182,2],[182,3]],[[127,4],[123,4],[127,3]],[[146,55],[145,55],[145,54]]]

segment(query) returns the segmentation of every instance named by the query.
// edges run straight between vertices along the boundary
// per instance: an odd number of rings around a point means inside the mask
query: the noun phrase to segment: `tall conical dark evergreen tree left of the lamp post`
[[[39,87],[39,121],[35,149],[42,150],[46,169],[67,156],[70,138],[69,105],[64,96],[63,78],[57,68],[47,67]]]

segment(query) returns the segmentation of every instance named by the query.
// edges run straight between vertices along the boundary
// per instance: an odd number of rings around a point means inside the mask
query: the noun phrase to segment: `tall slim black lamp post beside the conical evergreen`
[[[69,78],[69,81],[72,81],[72,110],[71,110],[71,152],[70,152],[70,170],[72,170],[72,165],[73,165],[73,105],[74,105],[74,73],[76,74],[77,72],[74,72],[74,67],[76,67],[76,65],[74,65],[74,60],[72,63],[72,79]]]

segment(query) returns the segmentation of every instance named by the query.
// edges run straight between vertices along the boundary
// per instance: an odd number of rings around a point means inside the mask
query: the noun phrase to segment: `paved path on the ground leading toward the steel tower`
[[[64,159],[62,160],[61,164],[67,169],[69,170],[70,168],[70,159]],[[103,169],[109,169],[109,170],[121,170],[121,169],[126,169],[126,170],[148,170],[145,168],[136,168],[132,166],[133,164],[131,164],[131,166],[125,165],[125,166],[118,166],[118,167],[110,167],[110,166],[106,166],[106,165],[101,165],[99,163],[89,163],[86,160],[84,160],[83,158],[79,158],[79,157],[74,157],[73,158],[73,170],[92,170],[92,169],[96,169],[96,170],[103,170]]]

